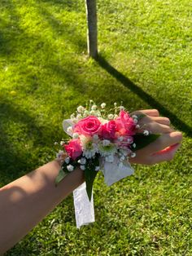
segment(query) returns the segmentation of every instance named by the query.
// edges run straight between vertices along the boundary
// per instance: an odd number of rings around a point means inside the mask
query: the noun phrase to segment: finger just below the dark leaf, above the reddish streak
[[[181,143],[182,134],[179,131],[175,131],[169,134],[164,134],[159,136],[154,142],[150,143],[145,148],[138,150],[139,154],[145,153],[146,155],[154,154],[155,152],[159,152],[164,148],[168,148],[174,144]]]

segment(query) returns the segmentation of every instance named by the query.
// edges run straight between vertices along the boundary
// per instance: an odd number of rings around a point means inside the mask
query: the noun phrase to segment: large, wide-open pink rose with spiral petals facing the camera
[[[101,131],[101,122],[94,116],[85,117],[77,122],[73,131],[79,135],[98,135]]]

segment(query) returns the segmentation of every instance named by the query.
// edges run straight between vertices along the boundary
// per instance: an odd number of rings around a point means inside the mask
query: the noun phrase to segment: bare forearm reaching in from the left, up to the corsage
[[[57,161],[51,161],[0,189],[0,254],[84,182],[82,170],[75,170],[55,187],[59,168]]]

